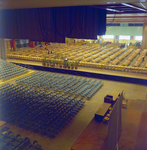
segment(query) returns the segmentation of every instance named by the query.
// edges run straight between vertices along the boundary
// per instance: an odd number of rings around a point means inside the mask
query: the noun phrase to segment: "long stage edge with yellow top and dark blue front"
[[[78,69],[72,70],[72,69],[61,69],[57,67],[55,68],[44,67],[41,62],[36,61],[26,61],[19,59],[7,59],[7,61],[35,70],[50,71],[50,72],[85,76],[90,78],[99,78],[105,80],[147,85],[147,74],[143,73],[97,69],[90,67],[78,67]]]

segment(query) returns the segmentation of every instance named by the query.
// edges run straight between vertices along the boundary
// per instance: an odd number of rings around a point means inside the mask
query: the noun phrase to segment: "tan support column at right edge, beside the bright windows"
[[[147,49],[147,23],[143,24],[141,49]]]

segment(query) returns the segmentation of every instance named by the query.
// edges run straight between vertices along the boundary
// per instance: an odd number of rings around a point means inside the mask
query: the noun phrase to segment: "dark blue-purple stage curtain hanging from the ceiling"
[[[90,6],[0,10],[0,38],[65,42],[105,31],[106,11]]]

